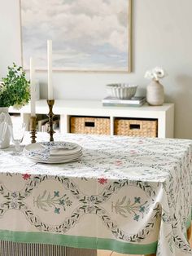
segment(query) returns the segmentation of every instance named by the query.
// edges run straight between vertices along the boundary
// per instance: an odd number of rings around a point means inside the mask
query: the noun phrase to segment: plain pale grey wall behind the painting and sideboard
[[[191,139],[191,10],[191,0],[133,0],[133,73],[55,73],[55,98],[102,99],[110,82],[137,83],[140,95],[146,69],[159,65],[168,72],[162,81],[166,101],[176,104],[175,137]],[[0,77],[13,61],[20,64],[19,0],[0,0]],[[45,98],[46,73],[37,77]]]

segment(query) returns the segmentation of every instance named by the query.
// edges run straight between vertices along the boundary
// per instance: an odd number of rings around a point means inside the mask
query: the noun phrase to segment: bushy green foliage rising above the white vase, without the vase
[[[14,106],[20,108],[30,99],[29,81],[22,67],[13,63],[8,67],[7,77],[2,78],[0,85],[0,107]]]

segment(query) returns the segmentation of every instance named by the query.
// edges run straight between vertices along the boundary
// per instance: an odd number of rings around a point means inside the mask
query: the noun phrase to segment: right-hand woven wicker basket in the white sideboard
[[[115,135],[157,137],[157,120],[115,120]]]

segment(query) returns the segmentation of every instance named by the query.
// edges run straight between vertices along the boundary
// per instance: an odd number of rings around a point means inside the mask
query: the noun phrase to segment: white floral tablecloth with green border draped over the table
[[[192,254],[192,141],[70,134],[55,140],[80,144],[81,160],[36,164],[13,148],[0,151],[0,240]]]

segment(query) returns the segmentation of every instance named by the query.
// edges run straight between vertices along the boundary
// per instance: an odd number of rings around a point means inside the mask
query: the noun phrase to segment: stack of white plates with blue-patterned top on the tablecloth
[[[32,143],[24,148],[24,154],[35,162],[47,164],[77,161],[82,156],[82,147],[69,142]]]

